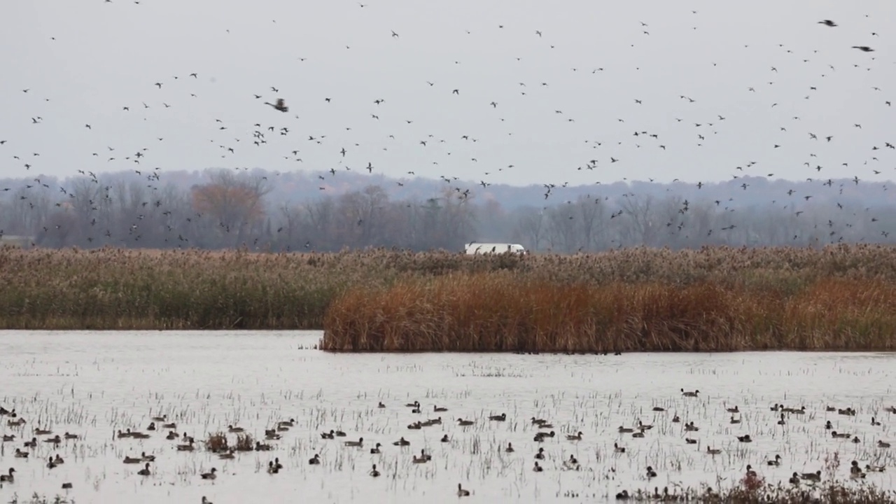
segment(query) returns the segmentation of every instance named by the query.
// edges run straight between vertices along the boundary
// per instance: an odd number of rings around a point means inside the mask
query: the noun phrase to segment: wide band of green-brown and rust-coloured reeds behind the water
[[[0,249],[0,328],[323,329],[335,352],[896,349],[896,249]]]

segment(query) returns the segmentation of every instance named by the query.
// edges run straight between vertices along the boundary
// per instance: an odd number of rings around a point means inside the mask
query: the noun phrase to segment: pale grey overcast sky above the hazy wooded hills
[[[889,1],[6,0],[0,176],[886,180],[893,27]]]

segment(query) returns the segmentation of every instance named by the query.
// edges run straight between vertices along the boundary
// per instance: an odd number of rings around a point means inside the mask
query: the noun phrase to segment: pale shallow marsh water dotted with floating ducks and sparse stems
[[[457,485],[469,500],[603,501],[617,491],[670,491],[708,484],[733,486],[751,464],[766,482],[787,482],[793,472],[823,470],[837,453],[836,476],[847,479],[858,460],[887,465],[866,482],[896,488],[896,355],[880,353],[649,353],[607,355],[517,355],[469,353],[332,354],[314,350],[320,332],[0,332],[0,406],[15,408],[27,423],[7,425],[14,434],[0,451],[0,474],[14,467],[0,501],[37,492],[52,501],[75,502],[455,502]],[[697,397],[681,389],[699,389]],[[419,401],[422,412],[405,404]],[[379,408],[382,402],[385,407]],[[773,404],[805,414],[772,412]],[[435,405],[447,408],[436,413]],[[727,408],[737,405],[732,423]],[[855,416],[826,412],[826,406],[857,410]],[[665,412],[652,411],[654,406]],[[506,413],[506,421],[490,421]],[[196,439],[193,452],[178,451],[168,430],[146,430],[151,417],[167,415],[178,435]],[[672,419],[679,416],[681,421]],[[414,421],[442,423],[409,430]],[[531,417],[556,431],[537,442]],[[881,425],[872,425],[872,417]],[[272,450],[222,460],[201,439],[242,427],[264,442],[264,431],[295,419]],[[460,427],[458,419],[475,421]],[[825,430],[849,432],[833,439]],[[643,439],[619,433],[638,421],[653,424]],[[697,431],[685,431],[693,421]],[[55,447],[42,442],[23,448],[35,428],[66,431],[81,439]],[[149,439],[116,439],[116,430],[140,430]],[[343,430],[344,438],[321,432]],[[548,431],[548,430],[543,430]],[[582,431],[581,440],[567,434]],[[636,430],[637,431],[637,430]],[[750,434],[751,443],[737,436]],[[440,442],[447,435],[449,442]],[[364,438],[363,448],[344,446]],[[392,446],[400,438],[406,448]],[[230,442],[236,434],[228,434]],[[696,439],[686,444],[685,438]],[[382,443],[382,453],[370,448]],[[504,448],[513,444],[513,453]],[[616,453],[614,443],[625,448]],[[13,456],[15,448],[31,452]],[[533,472],[544,448],[541,473]],[[707,448],[718,448],[709,455]],[[415,464],[425,449],[432,460]],[[156,456],[151,475],[125,456]],[[65,464],[47,468],[59,454]],[[320,465],[308,459],[320,455]],[[775,455],[780,466],[766,465]],[[574,456],[581,468],[567,470]],[[275,457],[284,466],[267,474]],[[368,472],[376,464],[382,475]],[[648,479],[651,465],[657,476]],[[218,469],[214,481],[199,474]],[[71,490],[62,490],[71,482]],[[851,484],[851,483],[848,483]],[[298,497],[300,496],[300,497]]]

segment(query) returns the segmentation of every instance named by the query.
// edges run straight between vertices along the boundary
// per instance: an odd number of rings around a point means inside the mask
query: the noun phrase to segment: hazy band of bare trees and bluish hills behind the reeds
[[[769,194],[746,203],[725,198],[731,188],[724,184],[703,187],[702,193],[691,187],[662,190],[663,185],[597,187],[588,193],[580,188],[566,195],[553,189],[553,199],[546,186],[544,204],[529,198],[514,205],[503,204],[487,187],[476,190],[458,181],[418,182],[424,188],[416,194],[396,197],[395,181],[387,178],[375,183],[355,178],[354,185],[319,187],[310,195],[304,187],[302,197],[292,198],[283,187],[289,187],[284,182],[289,178],[259,169],[209,169],[192,184],[123,173],[38,180],[0,181],[11,186],[0,187],[7,189],[0,193],[4,242],[47,248],[336,251],[462,250],[464,243],[480,241],[574,253],[896,240],[896,204],[880,203],[879,188],[869,189],[876,191],[874,199],[860,192],[844,195],[842,186],[837,191],[832,184],[830,194],[814,200]],[[874,206],[867,206],[871,199]]]

